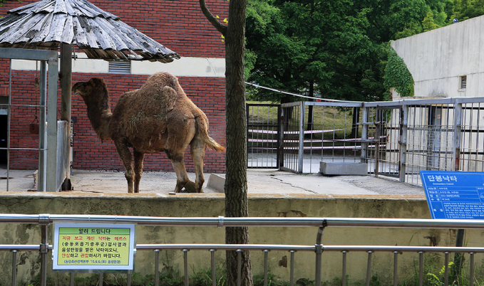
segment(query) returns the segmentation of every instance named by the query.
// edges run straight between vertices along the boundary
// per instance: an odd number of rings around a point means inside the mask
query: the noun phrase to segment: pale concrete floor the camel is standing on
[[[10,170],[9,191],[35,191],[34,171]],[[189,173],[190,179],[195,174]],[[225,174],[218,174],[220,177]],[[0,169],[0,191],[6,191],[6,170]],[[220,187],[207,186],[210,173],[205,174],[205,194],[220,193]],[[71,176],[74,191],[91,193],[127,193],[123,171],[89,171],[74,169]],[[143,173],[141,194],[169,194],[175,189],[174,172]],[[223,181],[220,184],[224,184]],[[393,179],[374,176],[323,176],[321,174],[294,174],[274,169],[248,169],[248,194],[327,194],[335,196],[417,195],[424,196],[422,187],[400,183]]]

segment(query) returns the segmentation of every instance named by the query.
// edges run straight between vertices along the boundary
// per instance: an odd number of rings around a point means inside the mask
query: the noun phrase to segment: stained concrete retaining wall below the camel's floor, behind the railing
[[[128,216],[217,217],[225,215],[223,194],[94,194],[67,193],[4,193],[0,199],[0,213],[58,213],[58,214],[112,214]],[[423,196],[249,196],[249,216],[259,217],[354,217],[354,218],[431,218]],[[249,228],[251,243],[314,245],[316,228]],[[40,243],[38,226],[0,226],[0,244]],[[207,227],[137,227],[137,243],[225,243],[222,228]],[[325,245],[455,245],[455,230],[417,230],[388,228],[326,228]],[[466,245],[482,246],[483,231],[466,231]],[[38,274],[39,258],[36,253],[20,253],[19,281],[29,281]],[[252,252],[254,274],[263,272],[263,253]],[[269,270],[277,277],[289,280],[289,253],[269,253]],[[393,253],[374,253],[373,273],[383,280],[391,280]],[[11,279],[11,253],[0,253],[0,283]],[[135,272],[153,274],[155,255],[138,251]],[[216,252],[217,265],[222,265],[225,253]],[[296,278],[314,280],[314,253],[296,253]],[[348,253],[348,270],[352,281],[364,280],[366,253]],[[192,250],[189,264],[195,270],[210,269],[210,253]],[[341,253],[323,253],[323,280],[341,276]],[[418,255],[400,255],[399,279],[413,274]],[[476,258],[480,261],[480,258]],[[173,266],[182,272],[181,251],[168,251],[160,255],[160,263]],[[162,268],[163,268],[162,264]],[[49,269],[51,269],[49,267]],[[192,270],[190,270],[190,273]],[[51,273],[51,277],[64,281],[65,273]]]

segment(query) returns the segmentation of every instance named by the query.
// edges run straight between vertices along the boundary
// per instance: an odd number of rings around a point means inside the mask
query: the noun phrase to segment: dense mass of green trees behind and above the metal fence
[[[411,96],[408,69],[382,46],[483,14],[484,0],[249,0],[246,78],[339,100],[383,100],[388,86]],[[250,100],[300,100],[251,87],[247,92]]]

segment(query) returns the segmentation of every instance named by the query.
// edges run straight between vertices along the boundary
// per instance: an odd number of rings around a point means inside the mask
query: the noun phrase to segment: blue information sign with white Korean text
[[[484,172],[420,171],[432,218],[484,219]]]

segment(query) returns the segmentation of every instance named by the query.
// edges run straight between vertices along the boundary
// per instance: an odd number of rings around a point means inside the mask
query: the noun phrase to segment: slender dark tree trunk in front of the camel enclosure
[[[247,217],[247,118],[245,107],[245,11],[247,0],[230,0],[229,23],[220,23],[200,0],[203,14],[225,36],[227,174],[225,216]],[[225,243],[249,243],[248,228],[225,228]],[[249,252],[242,252],[242,286],[252,286]],[[227,286],[237,285],[237,252],[227,251]]]

